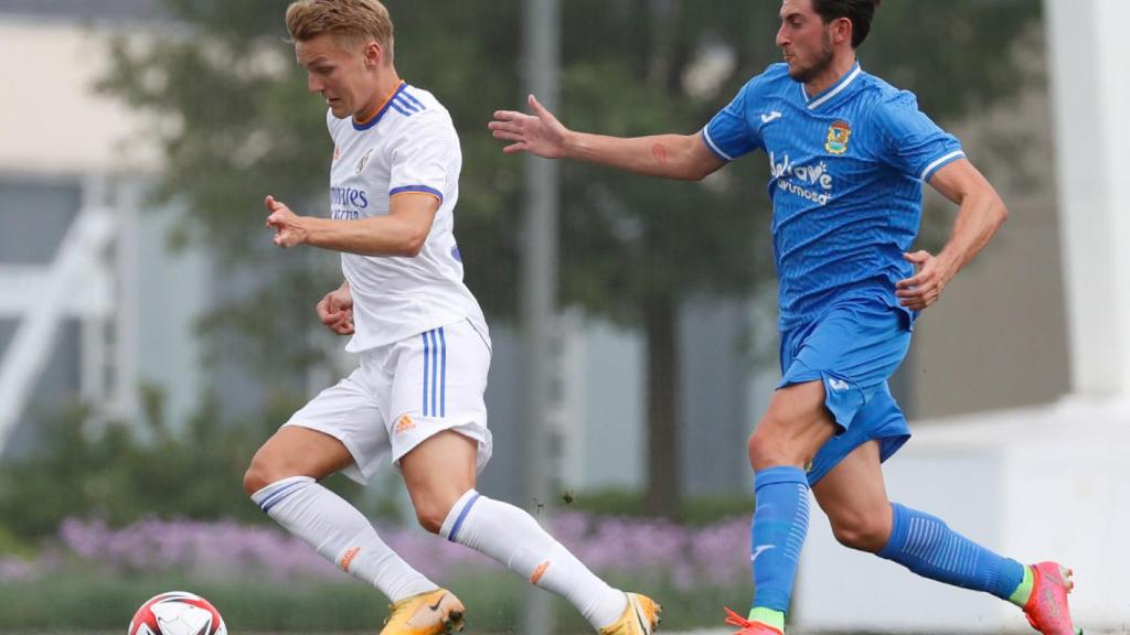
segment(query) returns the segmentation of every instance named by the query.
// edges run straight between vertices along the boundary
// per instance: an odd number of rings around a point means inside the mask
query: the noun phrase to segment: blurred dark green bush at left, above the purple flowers
[[[243,473],[255,450],[298,403],[294,395],[268,400],[266,411],[224,420],[205,399],[179,426],[164,416],[159,390],[142,390],[142,421],[98,423],[73,406],[46,423],[40,444],[0,463],[0,554],[54,534],[63,519],[101,517],[122,527],[145,517],[267,519],[243,492]],[[362,488],[344,477],[329,485],[371,515],[382,502],[360,501]],[[6,538],[7,537],[7,538]]]

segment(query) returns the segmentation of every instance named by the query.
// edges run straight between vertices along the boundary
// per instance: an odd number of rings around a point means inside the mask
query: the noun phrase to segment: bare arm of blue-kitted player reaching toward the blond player
[[[496,139],[511,141],[504,153],[527,151],[546,158],[572,158],[610,165],[620,169],[698,181],[725,165],[706,147],[701,134],[655,134],[651,137],[606,137],[565,128],[533,95],[533,114],[497,111],[488,125]]]

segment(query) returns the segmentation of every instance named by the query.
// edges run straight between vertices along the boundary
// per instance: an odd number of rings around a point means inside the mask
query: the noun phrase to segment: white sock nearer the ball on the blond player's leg
[[[310,477],[272,482],[251,499],[323,558],[393,602],[438,589],[390,549],[356,507]]]

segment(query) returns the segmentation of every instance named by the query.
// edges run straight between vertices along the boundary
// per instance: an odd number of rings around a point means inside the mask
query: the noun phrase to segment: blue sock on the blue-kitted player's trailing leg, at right
[[[930,514],[890,504],[894,525],[880,558],[914,573],[1008,600],[1024,581],[1024,565],[1003,558],[955,532]]]

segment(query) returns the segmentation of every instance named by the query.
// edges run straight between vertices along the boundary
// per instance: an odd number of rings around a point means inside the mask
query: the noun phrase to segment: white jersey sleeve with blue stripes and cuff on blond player
[[[458,165],[451,155],[460,151],[459,137],[451,120],[440,113],[421,113],[416,118],[418,121],[405,127],[392,145],[389,197],[421,192],[443,203],[447,172]]]

